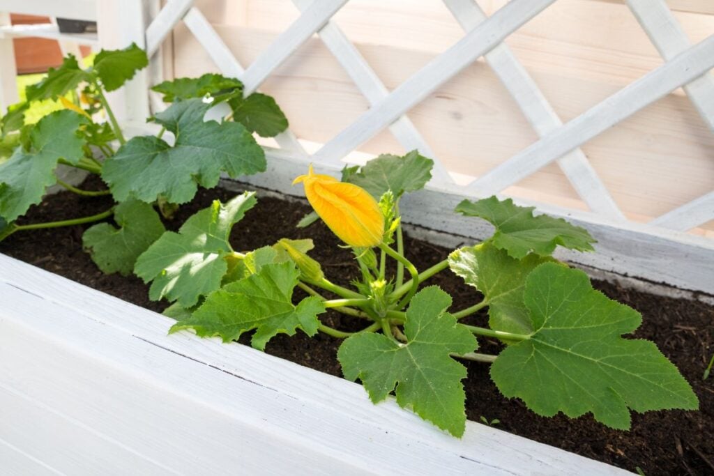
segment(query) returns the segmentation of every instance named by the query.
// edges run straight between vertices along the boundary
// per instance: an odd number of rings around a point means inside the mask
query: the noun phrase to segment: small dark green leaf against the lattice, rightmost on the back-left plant
[[[233,121],[246,126],[258,136],[274,137],[288,128],[288,118],[271,96],[253,93],[247,98],[233,98]]]

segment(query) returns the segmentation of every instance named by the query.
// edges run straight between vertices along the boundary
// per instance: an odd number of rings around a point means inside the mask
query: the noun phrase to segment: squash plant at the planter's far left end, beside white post
[[[241,81],[218,74],[155,86],[154,91],[171,103],[148,119],[159,124],[161,131],[127,140],[105,93],[121,88],[147,64],[145,52],[135,44],[100,51],[88,69],[81,69],[69,55],[46,78],[26,88],[26,102],[9,108],[0,122],[6,145],[0,148],[0,154],[5,154],[0,155],[0,240],[17,231],[113,217],[118,227],[92,226],[84,233],[84,246],[105,273],[128,275],[136,258],[165,231],[154,205],[170,216],[178,204],[191,201],[198,186],[216,186],[221,173],[237,177],[265,170],[265,153],[253,132],[276,136],[288,121],[273,98],[261,93],[243,98]],[[65,97],[78,89],[79,101]],[[24,123],[30,103],[58,98],[64,110],[35,124]],[[230,106],[228,115],[221,122],[204,120],[218,103]],[[95,121],[104,114],[109,121]],[[66,183],[61,179],[62,166],[99,175],[106,189],[84,191]],[[93,216],[16,223],[56,184],[83,196],[111,194],[116,203]]]

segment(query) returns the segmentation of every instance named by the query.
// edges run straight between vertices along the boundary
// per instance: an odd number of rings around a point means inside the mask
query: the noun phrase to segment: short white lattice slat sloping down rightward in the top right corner
[[[665,61],[691,46],[664,0],[627,0],[627,4]],[[704,122],[714,131],[714,76],[705,74],[686,84],[684,91]]]

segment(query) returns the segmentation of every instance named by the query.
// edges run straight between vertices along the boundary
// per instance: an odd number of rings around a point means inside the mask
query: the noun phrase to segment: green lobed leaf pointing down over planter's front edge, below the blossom
[[[449,357],[476,347],[476,339],[446,313],[451,297],[436,286],[411,300],[400,345],[385,335],[361,333],[347,338],[337,358],[345,378],[361,379],[373,402],[384,400],[396,385],[397,403],[411,406],[425,420],[460,437],[466,428],[461,380],[466,368]]]

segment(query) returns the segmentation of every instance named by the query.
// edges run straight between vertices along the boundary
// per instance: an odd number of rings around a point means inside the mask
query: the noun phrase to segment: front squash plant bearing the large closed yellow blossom
[[[256,204],[251,192],[215,201],[178,233],[164,233],[139,256],[135,273],[151,282],[152,299],[174,302],[165,312],[177,320],[171,332],[192,329],[229,342],[254,330],[251,344],[261,350],[278,333],[297,330],[342,338],[343,373],[361,380],[373,402],[394,393],[399,405],[456,436],[466,421],[460,359],[490,364],[503,395],[521,398],[539,415],[592,412],[624,430],[630,410],[698,407],[688,383],[653,343],[621,337],[638,328],[639,313],[553,258],[558,245],[592,250],[595,240],[583,228],[534,216],[511,200],[465,200],[456,211],[464,220],[490,222],[493,236],[417,270],[406,258],[399,201],[423,188],[432,165],[411,152],[346,168],[341,181],[312,167],[296,179],[316,216],[353,250],[361,278],[351,288],[329,280],[308,255],[312,240],[283,238],[233,250],[228,235]],[[393,274],[388,260],[396,263]],[[440,272],[473,286],[473,305],[451,309],[451,296],[428,285]],[[296,288],[308,293],[297,303]],[[329,327],[319,318],[328,308],[363,319],[363,329]],[[488,327],[468,324],[482,309]],[[478,338],[500,340],[504,348],[498,355],[477,353]]]

